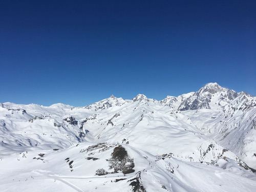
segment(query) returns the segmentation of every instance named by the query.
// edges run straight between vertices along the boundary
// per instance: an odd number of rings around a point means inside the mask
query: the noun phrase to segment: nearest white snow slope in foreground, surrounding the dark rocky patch
[[[214,164],[184,162],[129,145],[123,147],[134,160],[134,172],[123,174],[121,166],[115,172],[110,161],[118,146],[81,143],[65,150],[43,150],[39,155],[39,151],[13,154],[1,161],[0,190],[253,191],[256,187],[255,174],[230,159],[219,159]],[[102,169],[105,173],[97,175]]]

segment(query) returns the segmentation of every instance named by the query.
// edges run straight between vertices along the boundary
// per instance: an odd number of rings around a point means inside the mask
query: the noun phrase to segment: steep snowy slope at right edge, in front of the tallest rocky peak
[[[217,140],[249,166],[256,168],[256,102],[245,94],[223,106],[220,112],[189,114],[206,135]],[[200,118],[199,118],[200,116]]]

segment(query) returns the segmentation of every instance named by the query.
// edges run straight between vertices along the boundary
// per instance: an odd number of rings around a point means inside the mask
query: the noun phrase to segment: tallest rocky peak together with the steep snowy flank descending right
[[[179,110],[205,135],[256,168],[254,97],[222,88],[217,83],[208,83],[181,103]]]

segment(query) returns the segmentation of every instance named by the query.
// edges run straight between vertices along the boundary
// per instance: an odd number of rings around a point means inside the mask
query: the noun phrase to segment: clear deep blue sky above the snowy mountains
[[[256,95],[256,1],[0,1],[0,102]]]

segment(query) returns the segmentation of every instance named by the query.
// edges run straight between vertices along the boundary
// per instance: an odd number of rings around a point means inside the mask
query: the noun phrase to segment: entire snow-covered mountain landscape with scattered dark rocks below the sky
[[[160,101],[0,103],[0,132],[1,191],[256,187],[256,98],[217,83]]]

